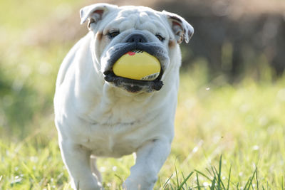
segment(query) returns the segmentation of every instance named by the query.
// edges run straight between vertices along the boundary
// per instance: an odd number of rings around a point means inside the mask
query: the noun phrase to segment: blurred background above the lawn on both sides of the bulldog
[[[88,31],[79,24],[79,9],[96,2],[0,2],[1,138],[23,139],[42,128],[54,132],[56,74],[68,50]],[[182,75],[201,71],[203,83],[215,87],[238,84],[244,78],[268,83],[283,78],[283,0],[100,2],[150,6],[189,21],[195,35],[190,44],[182,44]]]

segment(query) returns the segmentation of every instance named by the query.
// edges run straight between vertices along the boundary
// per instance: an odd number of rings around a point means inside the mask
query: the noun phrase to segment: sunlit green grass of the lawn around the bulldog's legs
[[[175,140],[155,189],[284,189],[284,78],[218,87],[202,70],[182,73]],[[2,189],[71,188],[51,112],[39,123],[25,139],[0,140]],[[133,163],[100,159],[105,189],[120,188]]]

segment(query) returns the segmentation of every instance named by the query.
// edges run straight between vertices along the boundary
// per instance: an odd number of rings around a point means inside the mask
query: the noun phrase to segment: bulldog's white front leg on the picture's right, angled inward
[[[123,185],[126,190],[150,190],[157,181],[157,174],[171,149],[170,139],[153,139],[144,144],[138,152],[130,176]]]

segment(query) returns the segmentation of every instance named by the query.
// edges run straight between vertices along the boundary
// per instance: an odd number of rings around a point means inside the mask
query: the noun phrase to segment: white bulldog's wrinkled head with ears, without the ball
[[[93,4],[81,9],[81,23],[87,20],[94,33],[90,48],[95,68],[106,83],[132,93],[160,90],[171,68],[180,66],[178,44],[188,43],[194,32],[182,17],[144,6]],[[160,75],[155,80],[133,80],[113,73],[114,63],[133,50],[145,51],[160,61]]]

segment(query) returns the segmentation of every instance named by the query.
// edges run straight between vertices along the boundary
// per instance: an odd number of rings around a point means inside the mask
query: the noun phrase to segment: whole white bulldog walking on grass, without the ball
[[[88,34],[64,58],[56,80],[55,123],[73,189],[103,189],[98,157],[135,152],[123,189],[153,189],[170,154],[181,53],[194,32],[177,14],[144,6],[93,4],[80,11]],[[132,50],[155,56],[155,80],[113,73],[116,60]]]

